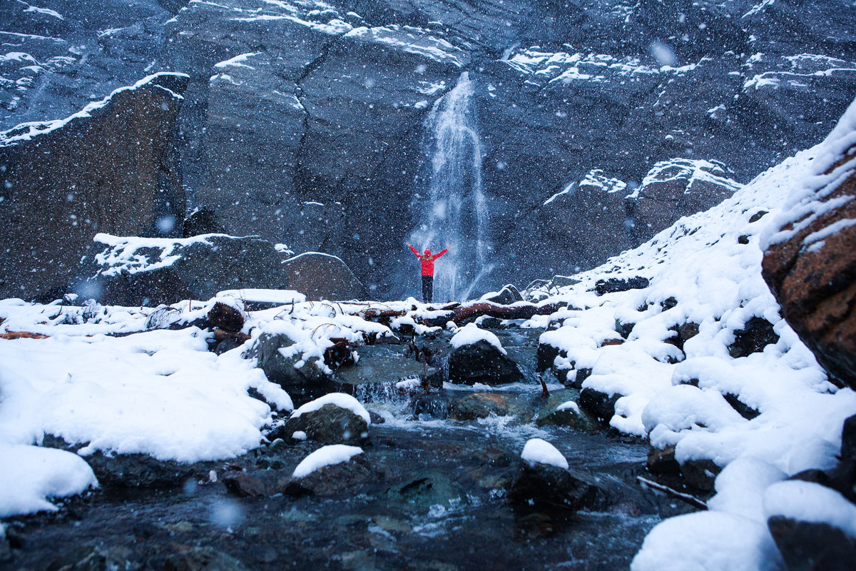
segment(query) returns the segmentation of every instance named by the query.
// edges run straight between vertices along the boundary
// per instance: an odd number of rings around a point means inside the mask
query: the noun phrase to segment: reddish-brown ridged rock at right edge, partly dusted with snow
[[[763,275],[784,318],[817,361],[835,382],[856,388],[856,226],[847,222],[856,218],[853,151],[854,147],[848,149],[829,169],[844,176],[835,190],[824,196],[823,189],[818,189],[808,198],[815,201],[809,205],[814,212],[832,200],[851,200],[819,214],[788,240],[770,245],[764,253]],[[803,226],[804,221],[805,217],[783,230]],[[810,241],[815,233],[829,235]]]

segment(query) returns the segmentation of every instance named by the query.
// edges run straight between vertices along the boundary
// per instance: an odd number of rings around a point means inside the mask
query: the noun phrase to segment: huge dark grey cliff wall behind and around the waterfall
[[[80,12],[49,4],[67,20]],[[747,181],[820,140],[856,94],[856,8],[844,0],[138,0],[138,21],[144,4],[175,14],[152,70],[191,76],[176,139],[188,207],[231,234],[334,254],[394,296],[418,288],[402,242],[424,223],[425,121],[462,72],[494,266],[476,291],[639,243],[728,188],[697,185],[687,199],[684,178],[661,188],[671,199],[627,205],[657,163],[719,161],[718,176]],[[110,68],[131,45],[75,65]],[[54,85],[44,77],[34,85]],[[34,90],[20,97],[39,108]],[[562,195],[556,220],[544,203],[592,171],[625,196]]]

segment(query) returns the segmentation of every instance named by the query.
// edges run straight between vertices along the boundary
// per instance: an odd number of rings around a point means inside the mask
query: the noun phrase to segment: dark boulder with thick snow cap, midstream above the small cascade
[[[450,341],[449,381],[459,384],[505,384],[523,380],[499,339],[476,324],[461,327]]]

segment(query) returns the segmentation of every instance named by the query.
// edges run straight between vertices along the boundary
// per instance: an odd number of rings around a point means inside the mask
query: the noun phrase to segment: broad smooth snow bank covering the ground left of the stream
[[[0,342],[0,443],[53,434],[86,443],[84,455],[215,460],[255,448],[270,425],[270,406],[249,389],[293,408],[239,351],[209,352],[199,329],[146,331],[147,311],[112,307],[97,322],[68,324],[80,309],[0,301],[0,330],[48,336]]]

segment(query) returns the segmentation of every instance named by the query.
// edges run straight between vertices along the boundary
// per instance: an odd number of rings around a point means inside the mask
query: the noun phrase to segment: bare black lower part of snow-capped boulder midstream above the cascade
[[[523,379],[520,367],[486,341],[462,345],[449,356],[451,383],[506,384]]]

